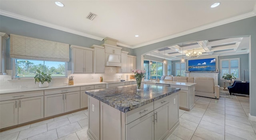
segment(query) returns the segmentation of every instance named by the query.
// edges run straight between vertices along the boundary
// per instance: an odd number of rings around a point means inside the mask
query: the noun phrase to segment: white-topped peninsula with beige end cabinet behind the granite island
[[[195,106],[195,85],[196,83],[189,82],[175,82],[175,81],[142,81],[144,84],[161,85],[172,88],[180,88],[179,93],[179,105],[180,109],[191,111]]]

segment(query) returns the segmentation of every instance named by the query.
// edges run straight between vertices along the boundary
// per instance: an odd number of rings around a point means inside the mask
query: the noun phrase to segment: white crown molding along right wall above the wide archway
[[[158,43],[158,42],[165,41],[165,40],[168,40],[168,39],[172,39],[172,38],[175,38],[175,37],[180,37],[182,35],[195,33],[197,31],[202,31],[202,30],[205,30],[205,29],[209,29],[209,28],[212,28],[212,27],[224,25],[224,24],[227,24],[227,23],[231,23],[231,22],[246,19],[246,18],[250,18],[250,17],[253,17],[253,16],[256,16],[256,5],[254,6],[254,10],[252,12],[242,14],[242,15],[239,15],[239,16],[236,16],[236,17],[224,19],[222,21],[218,21],[218,22],[215,22],[215,23],[210,23],[208,25],[200,26],[200,27],[197,27],[197,28],[194,28],[194,29],[190,29],[190,30],[181,32],[181,33],[176,33],[174,35],[163,37],[161,39],[156,39],[154,41],[149,41],[147,43],[142,43],[140,45],[133,46],[131,49],[139,48],[139,47],[150,45],[150,44],[153,44],[153,43]]]

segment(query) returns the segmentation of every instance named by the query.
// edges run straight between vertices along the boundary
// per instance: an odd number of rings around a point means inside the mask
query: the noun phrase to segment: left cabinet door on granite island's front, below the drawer
[[[154,140],[154,111],[126,125],[126,140]]]

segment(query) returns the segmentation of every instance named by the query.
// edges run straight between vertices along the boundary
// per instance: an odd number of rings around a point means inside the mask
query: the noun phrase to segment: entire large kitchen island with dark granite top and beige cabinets
[[[86,91],[92,140],[164,140],[179,125],[180,88],[142,84]]]

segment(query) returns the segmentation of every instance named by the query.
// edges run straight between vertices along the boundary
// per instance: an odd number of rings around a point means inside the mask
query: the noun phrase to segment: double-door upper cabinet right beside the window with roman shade
[[[72,73],[92,73],[93,72],[93,52],[94,49],[71,45]]]

